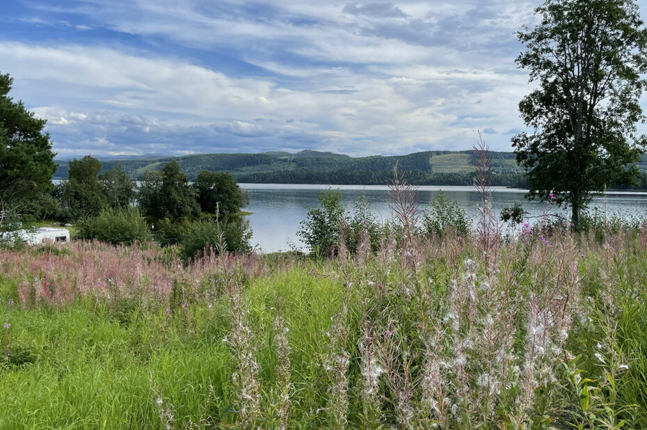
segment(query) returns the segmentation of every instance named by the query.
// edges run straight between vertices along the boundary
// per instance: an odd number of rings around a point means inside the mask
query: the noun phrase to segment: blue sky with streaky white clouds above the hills
[[[0,72],[59,157],[509,150],[538,3],[4,0]]]

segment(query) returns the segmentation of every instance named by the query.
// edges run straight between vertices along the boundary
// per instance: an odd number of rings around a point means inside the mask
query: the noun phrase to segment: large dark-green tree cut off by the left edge
[[[12,83],[0,74],[0,223],[10,205],[51,191],[56,171],[45,120],[8,96]]]

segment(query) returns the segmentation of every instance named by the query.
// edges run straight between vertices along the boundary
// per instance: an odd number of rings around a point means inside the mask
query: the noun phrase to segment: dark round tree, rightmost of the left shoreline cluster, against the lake
[[[246,193],[241,190],[229,173],[209,172],[202,170],[193,183],[198,193],[198,203],[204,212],[219,216],[230,216],[240,212],[241,207],[249,202]]]

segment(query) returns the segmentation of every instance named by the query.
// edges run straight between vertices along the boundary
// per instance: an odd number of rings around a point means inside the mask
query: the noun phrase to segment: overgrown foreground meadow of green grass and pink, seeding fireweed
[[[646,428],[647,224],[504,234],[477,149],[469,234],[398,177],[326,259],[0,249],[0,428]]]

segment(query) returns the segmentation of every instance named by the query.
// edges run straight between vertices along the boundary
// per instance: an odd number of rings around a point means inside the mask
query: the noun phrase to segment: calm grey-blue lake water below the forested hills
[[[244,210],[252,212],[248,216],[253,230],[252,244],[259,250],[273,252],[289,250],[291,246],[301,248],[303,244],[296,236],[299,223],[305,219],[306,206],[319,204],[320,191],[326,191],[325,185],[293,185],[293,184],[240,184],[249,193],[250,205]],[[389,207],[387,186],[362,185],[333,185],[339,191],[342,204],[352,211],[353,204],[360,196],[369,200],[369,208],[378,219],[392,216]],[[442,193],[456,200],[472,219],[477,218],[477,204],[481,196],[471,186],[420,186],[417,200],[423,210],[431,208],[431,200]],[[493,209],[499,214],[504,207],[515,202],[522,203],[531,215],[540,215],[546,209],[546,204],[538,201],[528,201],[524,198],[525,190],[493,187]],[[607,214],[630,217],[647,216],[647,193],[636,191],[609,192],[605,198],[594,198],[591,207],[605,210]],[[560,212],[556,207],[550,208],[552,213]]]

